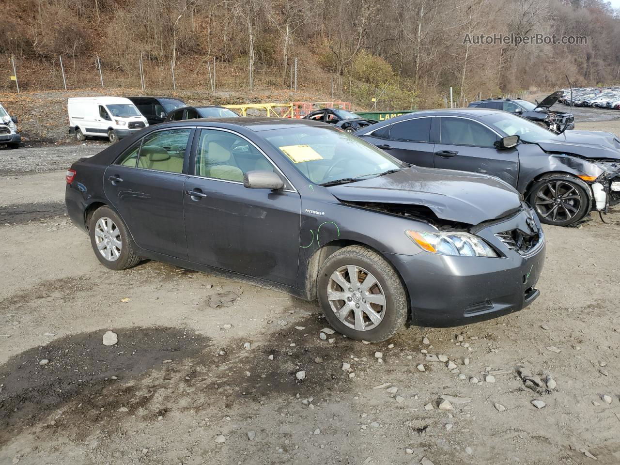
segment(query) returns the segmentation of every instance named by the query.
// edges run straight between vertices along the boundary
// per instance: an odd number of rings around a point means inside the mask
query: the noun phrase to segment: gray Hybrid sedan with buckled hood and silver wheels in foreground
[[[514,188],[410,167],[325,123],[149,126],[66,181],[106,267],[161,260],[318,300],[353,339],[490,319],[539,294],[544,236]]]

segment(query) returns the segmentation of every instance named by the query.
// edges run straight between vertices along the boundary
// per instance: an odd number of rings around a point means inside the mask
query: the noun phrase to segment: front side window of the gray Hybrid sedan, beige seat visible
[[[243,182],[249,171],[273,171],[273,165],[246,139],[227,131],[200,131],[196,151],[196,174]]]

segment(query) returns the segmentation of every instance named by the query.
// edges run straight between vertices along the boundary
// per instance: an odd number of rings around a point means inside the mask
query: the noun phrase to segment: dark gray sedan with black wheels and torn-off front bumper
[[[505,180],[543,223],[569,226],[620,200],[620,141],[611,133],[542,128],[497,110],[425,110],[356,132],[402,161]]]

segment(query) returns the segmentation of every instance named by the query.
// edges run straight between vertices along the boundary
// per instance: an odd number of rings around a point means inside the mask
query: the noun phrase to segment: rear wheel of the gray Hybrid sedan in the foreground
[[[97,259],[110,270],[135,267],[140,257],[123,220],[108,206],[98,208],[89,224],[91,246]]]

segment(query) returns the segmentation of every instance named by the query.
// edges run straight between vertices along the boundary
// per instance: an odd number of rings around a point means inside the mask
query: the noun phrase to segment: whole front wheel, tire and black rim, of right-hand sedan
[[[585,188],[569,176],[552,176],[536,182],[529,195],[542,223],[569,226],[577,223],[590,211]]]

